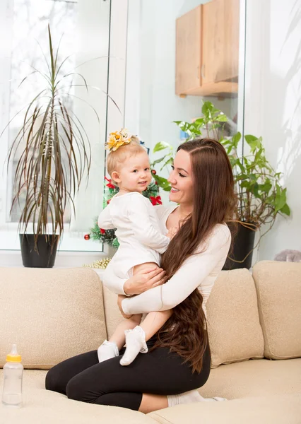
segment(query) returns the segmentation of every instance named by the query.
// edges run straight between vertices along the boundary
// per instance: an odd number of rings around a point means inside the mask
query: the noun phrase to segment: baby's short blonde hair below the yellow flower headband
[[[124,161],[129,158],[129,156],[137,155],[138,153],[146,152],[146,148],[141,146],[138,137],[131,136],[131,141],[128,144],[124,144],[117,148],[116,151],[110,151],[107,155],[107,172],[109,173],[112,179],[112,173],[114,171],[119,171],[120,165],[124,163]],[[114,184],[117,182],[112,179]]]

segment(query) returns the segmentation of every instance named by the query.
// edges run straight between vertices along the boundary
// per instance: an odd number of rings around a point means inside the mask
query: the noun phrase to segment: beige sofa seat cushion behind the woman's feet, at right
[[[220,365],[199,389],[204,397],[226,399],[273,394],[301,394],[301,359],[248,360]],[[289,421],[288,421],[289,422]],[[300,420],[301,423],[301,420]]]

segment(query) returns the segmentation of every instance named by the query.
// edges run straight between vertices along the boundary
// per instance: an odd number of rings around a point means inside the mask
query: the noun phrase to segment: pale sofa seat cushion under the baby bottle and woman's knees
[[[154,424],[143,413],[114,406],[71,401],[63,394],[45,389],[46,371],[25,370],[23,408],[0,406],[0,424]],[[2,387],[3,370],[0,370]]]

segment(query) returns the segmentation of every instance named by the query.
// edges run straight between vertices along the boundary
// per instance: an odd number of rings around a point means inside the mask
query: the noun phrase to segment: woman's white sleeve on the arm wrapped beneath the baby
[[[179,305],[197,287],[206,290],[206,278],[218,266],[223,268],[230,248],[230,230],[219,225],[213,235],[208,238],[206,248],[200,253],[191,255],[167,283],[151,288],[133,298],[122,301],[122,309],[126,314],[141,314],[152,311],[165,311]],[[212,287],[211,287],[212,288]]]

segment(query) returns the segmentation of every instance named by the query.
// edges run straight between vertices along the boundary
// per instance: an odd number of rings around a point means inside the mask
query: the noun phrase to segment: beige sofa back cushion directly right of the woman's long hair
[[[264,358],[256,289],[247,269],[222,271],[206,307],[212,367]]]

